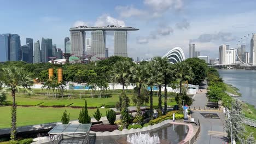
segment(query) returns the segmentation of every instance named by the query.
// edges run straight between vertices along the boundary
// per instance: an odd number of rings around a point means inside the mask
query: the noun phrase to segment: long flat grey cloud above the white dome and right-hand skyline
[[[232,35],[232,33],[230,33],[230,32],[218,32],[218,33],[214,33],[214,34],[211,34],[211,33],[201,34],[199,36],[199,38],[190,40],[190,41],[191,42],[199,41],[201,43],[208,43],[208,42],[215,41],[215,40],[222,40],[225,42],[229,42],[229,41],[236,40],[236,39],[237,39],[237,37]]]

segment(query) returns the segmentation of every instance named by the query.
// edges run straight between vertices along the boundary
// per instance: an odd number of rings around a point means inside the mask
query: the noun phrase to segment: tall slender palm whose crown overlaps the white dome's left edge
[[[167,57],[154,57],[154,60],[159,64],[159,71],[164,76],[163,84],[165,85],[165,108],[164,108],[164,115],[167,112],[167,85],[170,83],[170,78],[172,77],[172,70],[170,69],[171,63],[168,61]]]

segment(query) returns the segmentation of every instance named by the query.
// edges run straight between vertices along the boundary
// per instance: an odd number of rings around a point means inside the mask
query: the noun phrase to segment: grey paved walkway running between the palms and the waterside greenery
[[[195,143],[201,144],[215,144],[215,143],[226,143],[227,138],[226,138],[226,133],[224,130],[224,119],[225,119],[225,114],[222,112],[217,112],[217,111],[193,111],[193,107],[205,107],[207,105],[207,97],[206,97],[206,92],[207,92],[207,85],[201,87],[202,92],[200,91],[195,95],[195,101],[193,101],[193,105],[191,106],[191,111],[193,112],[191,117],[199,119],[200,124],[201,124],[201,132],[199,134],[199,137],[197,137],[197,140]],[[201,115],[201,113],[216,113],[219,117],[219,119],[214,119],[214,118],[205,118]]]

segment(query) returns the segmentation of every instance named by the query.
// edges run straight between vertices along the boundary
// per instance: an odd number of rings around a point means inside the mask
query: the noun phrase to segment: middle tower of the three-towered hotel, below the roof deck
[[[91,58],[95,61],[97,57],[104,58],[106,49],[106,32],[92,31],[91,32],[91,54],[95,55]]]

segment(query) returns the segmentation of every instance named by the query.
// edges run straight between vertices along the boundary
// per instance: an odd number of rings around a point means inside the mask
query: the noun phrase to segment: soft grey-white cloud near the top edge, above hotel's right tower
[[[121,17],[141,17],[146,16],[147,11],[136,9],[133,5],[117,6],[115,10],[118,11]]]

